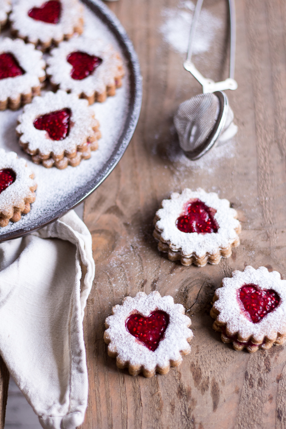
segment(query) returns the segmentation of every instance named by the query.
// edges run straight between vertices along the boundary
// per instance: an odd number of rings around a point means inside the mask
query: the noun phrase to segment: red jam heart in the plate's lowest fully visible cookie
[[[57,110],[57,112],[39,116],[34,121],[34,127],[37,130],[47,131],[52,140],[63,140],[69,134],[70,115],[69,109]]]

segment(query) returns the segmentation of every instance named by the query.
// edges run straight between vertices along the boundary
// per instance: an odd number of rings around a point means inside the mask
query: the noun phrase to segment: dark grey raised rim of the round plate
[[[113,33],[126,60],[126,66],[129,71],[130,94],[129,110],[123,130],[111,156],[95,177],[91,178],[90,181],[84,184],[84,186],[79,187],[74,194],[67,196],[63,201],[60,201],[59,207],[52,215],[41,215],[36,222],[27,224],[18,230],[9,231],[8,233],[5,233],[5,228],[0,228],[0,242],[22,237],[32,231],[38,230],[39,228],[56,221],[67,211],[75,208],[78,204],[83,202],[84,199],[87,198],[87,196],[89,196],[114,169],[126,150],[137,125],[142,102],[142,78],[138,57],[134,51],[132,42],[114,13],[111,12],[100,0],[81,1],[88,6]]]

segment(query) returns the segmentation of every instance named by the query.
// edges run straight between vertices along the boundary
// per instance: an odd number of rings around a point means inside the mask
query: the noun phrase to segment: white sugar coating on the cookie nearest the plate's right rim
[[[84,51],[102,59],[102,63],[96,70],[82,80],[72,79],[72,65],[67,61],[68,55],[76,51]],[[115,85],[115,78],[122,76],[120,72],[122,60],[118,58],[112,45],[86,36],[75,36],[68,42],[62,42],[59,48],[51,51],[51,57],[48,58],[47,63],[47,73],[51,76],[51,82],[78,96],[82,93],[88,97],[94,92],[102,94],[107,86]]]

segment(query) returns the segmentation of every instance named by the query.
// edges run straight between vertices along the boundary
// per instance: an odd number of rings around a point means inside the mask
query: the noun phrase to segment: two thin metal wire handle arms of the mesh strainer
[[[204,0],[198,0],[193,16],[192,27],[190,32],[187,61],[191,63],[193,55],[193,46],[196,36],[196,30],[199,21],[199,15],[202,9],[202,3]],[[229,77],[234,79],[235,77],[235,46],[236,46],[236,18],[235,18],[235,0],[229,0],[229,17],[230,17],[230,61],[229,61]]]

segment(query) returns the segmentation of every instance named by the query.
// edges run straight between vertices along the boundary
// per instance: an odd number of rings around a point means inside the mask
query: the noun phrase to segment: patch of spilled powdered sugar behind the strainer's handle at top
[[[193,20],[195,6],[190,0],[179,3],[178,7],[167,8],[162,12],[164,23],[160,26],[160,32],[164,40],[180,54],[187,52],[190,29]],[[214,17],[208,10],[202,9],[193,53],[201,54],[211,48],[216,31],[221,27],[219,18]]]

